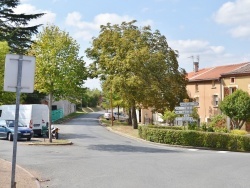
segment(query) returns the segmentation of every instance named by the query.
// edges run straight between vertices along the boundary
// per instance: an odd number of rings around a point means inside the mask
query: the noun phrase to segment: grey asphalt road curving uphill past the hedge
[[[100,113],[59,125],[68,146],[18,142],[17,164],[49,188],[248,188],[249,153],[156,145],[129,139],[99,125]],[[0,158],[11,161],[12,142],[0,140]],[[0,186],[1,187],[1,186]]]

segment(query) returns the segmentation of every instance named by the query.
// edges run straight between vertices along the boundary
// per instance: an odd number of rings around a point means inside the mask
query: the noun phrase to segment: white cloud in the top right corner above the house
[[[249,0],[227,2],[214,14],[214,20],[218,24],[229,26],[229,32],[233,37],[250,38],[249,10]]]

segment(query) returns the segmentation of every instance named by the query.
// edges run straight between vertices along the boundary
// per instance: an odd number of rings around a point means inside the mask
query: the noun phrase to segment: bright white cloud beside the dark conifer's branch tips
[[[25,13],[25,14],[37,14],[37,13],[46,13],[40,18],[37,18],[35,20],[31,20],[29,22],[29,25],[38,25],[38,24],[47,24],[47,23],[54,23],[56,19],[56,14],[47,11],[47,10],[40,10],[36,9],[36,7],[30,5],[30,4],[21,4],[17,8],[14,9],[14,12],[17,14]]]

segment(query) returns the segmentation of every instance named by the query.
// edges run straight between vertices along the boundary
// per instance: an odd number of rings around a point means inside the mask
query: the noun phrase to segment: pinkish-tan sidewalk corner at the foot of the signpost
[[[0,187],[11,187],[11,162],[0,159]],[[16,165],[15,173],[16,188],[39,188],[40,184],[36,178],[24,168]]]

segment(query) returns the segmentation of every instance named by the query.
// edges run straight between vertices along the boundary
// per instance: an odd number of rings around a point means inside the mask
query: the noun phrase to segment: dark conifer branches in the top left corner
[[[28,22],[44,15],[15,14],[13,9],[20,4],[19,0],[0,1],[0,41],[7,41],[10,52],[24,54],[32,43],[32,35],[38,32],[41,25],[28,26]]]

